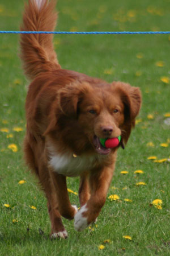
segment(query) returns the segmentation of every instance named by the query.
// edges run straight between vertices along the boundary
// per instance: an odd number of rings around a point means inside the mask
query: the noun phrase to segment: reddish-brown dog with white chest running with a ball
[[[22,31],[54,31],[53,0],[28,0]],[[25,102],[24,158],[48,201],[52,238],[66,238],[62,217],[82,231],[95,222],[111,184],[117,150],[127,143],[141,108],[139,88],[62,69],[52,34],[22,34],[20,57],[31,80]],[[116,147],[100,138],[121,135]],[[66,177],[80,176],[80,209],[71,205]]]

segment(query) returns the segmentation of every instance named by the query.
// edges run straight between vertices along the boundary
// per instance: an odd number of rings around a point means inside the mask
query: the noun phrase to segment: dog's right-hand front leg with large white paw
[[[77,231],[82,231],[92,222],[95,222],[105,203],[113,171],[114,164],[110,167],[104,167],[102,170],[91,171],[89,179],[91,197],[74,217],[74,228]]]

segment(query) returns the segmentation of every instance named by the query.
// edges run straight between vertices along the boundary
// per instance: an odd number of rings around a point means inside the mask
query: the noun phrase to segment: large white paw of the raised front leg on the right
[[[86,204],[74,216],[74,228],[76,231],[82,231],[88,226],[87,218],[82,215],[84,212],[87,212]]]

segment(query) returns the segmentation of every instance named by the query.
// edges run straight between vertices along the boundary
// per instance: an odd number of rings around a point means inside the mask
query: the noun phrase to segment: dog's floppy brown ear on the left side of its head
[[[87,82],[74,82],[59,90],[58,105],[61,113],[68,118],[76,118],[78,116],[78,105],[82,101],[84,94],[91,89]]]

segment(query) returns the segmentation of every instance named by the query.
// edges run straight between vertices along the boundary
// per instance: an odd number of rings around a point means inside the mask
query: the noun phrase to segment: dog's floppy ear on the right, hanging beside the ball
[[[117,89],[124,103],[124,123],[121,126],[122,141],[127,143],[131,129],[135,126],[135,118],[141,109],[142,96],[138,87],[133,87],[124,82],[117,82]]]

